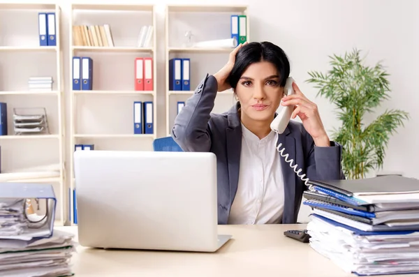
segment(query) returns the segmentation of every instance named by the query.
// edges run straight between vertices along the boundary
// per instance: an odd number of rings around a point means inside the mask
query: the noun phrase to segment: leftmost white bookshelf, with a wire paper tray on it
[[[42,15],[45,22],[39,23],[39,13],[50,15]],[[61,8],[54,3],[0,3],[0,102],[6,103],[8,127],[0,135],[0,182],[51,184],[57,197],[55,225],[64,225],[66,211],[60,16]],[[48,36],[43,37],[45,45],[39,26],[54,38],[48,43]],[[33,77],[38,80],[30,79]],[[45,77],[52,82],[43,80]],[[37,127],[26,122],[19,129],[22,125],[13,115],[41,114],[38,108],[45,109],[42,120],[47,125],[39,119]]]

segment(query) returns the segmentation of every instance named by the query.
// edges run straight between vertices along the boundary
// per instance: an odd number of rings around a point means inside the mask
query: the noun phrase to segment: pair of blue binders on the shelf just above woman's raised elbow
[[[174,58],[169,60],[169,90],[191,90],[191,59]]]

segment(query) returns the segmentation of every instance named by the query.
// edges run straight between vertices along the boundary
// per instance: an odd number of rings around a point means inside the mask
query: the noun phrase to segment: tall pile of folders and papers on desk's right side
[[[310,246],[358,275],[419,272],[419,180],[309,181]]]

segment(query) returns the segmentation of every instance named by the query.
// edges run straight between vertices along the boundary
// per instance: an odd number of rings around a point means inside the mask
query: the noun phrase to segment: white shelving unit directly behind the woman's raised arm
[[[205,75],[216,73],[227,61],[233,47],[191,47],[206,40],[231,38],[231,15],[246,15],[247,41],[250,41],[248,7],[216,5],[168,5],[166,7],[166,133],[170,135],[177,115],[177,102],[186,100]],[[192,41],[186,40],[192,33]],[[191,91],[169,90],[169,61],[191,59]],[[219,92],[212,112],[225,112],[235,103],[232,91]]]

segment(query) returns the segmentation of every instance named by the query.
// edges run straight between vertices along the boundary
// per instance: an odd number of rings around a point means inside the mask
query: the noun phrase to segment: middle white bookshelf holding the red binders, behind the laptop
[[[69,61],[71,181],[68,189],[70,200],[68,218],[71,225],[77,225],[74,218],[77,201],[73,197],[77,187],[73,161],[75,147],[80,144],[93,144],[94,150],[152,151],[152,142],[156,138],[157,130],[156,14],[153,5],[123,3],[77,3],[71,5],[70,13],[68,25],[71,50]],[[95,33],[96,38],[94,38]],[[91,87],[87,89],[79,89],[77,85],[73,87],[73,70],[78,68],[78,63],[73,63],[73,57],[91,58],[93,63]],[[145,66],[142,71],[144,78],[146,72],[151,72],[152,80],[147,79],[150,82],[144,82],[144,87],[140,90],[135,84],[138,77],[135,71],[137,58],[143,59],[143,65],[146,59],[152,58],[151,71]],[[147,66],[149,64],[147,61]],[[83,71],[83,68],[80,70]],[[83,73],[80,73],[82,76]],[[83,83],[82,76],[81,86]],[[149,87],[150,84],[152,88]],[[142,103],[152,101],[152,133],[138,134],[134,131],[135,101]],[[149,118],[150,114],[147,113],[147,119]],[[145,122],[144,117],[142,122]]]

